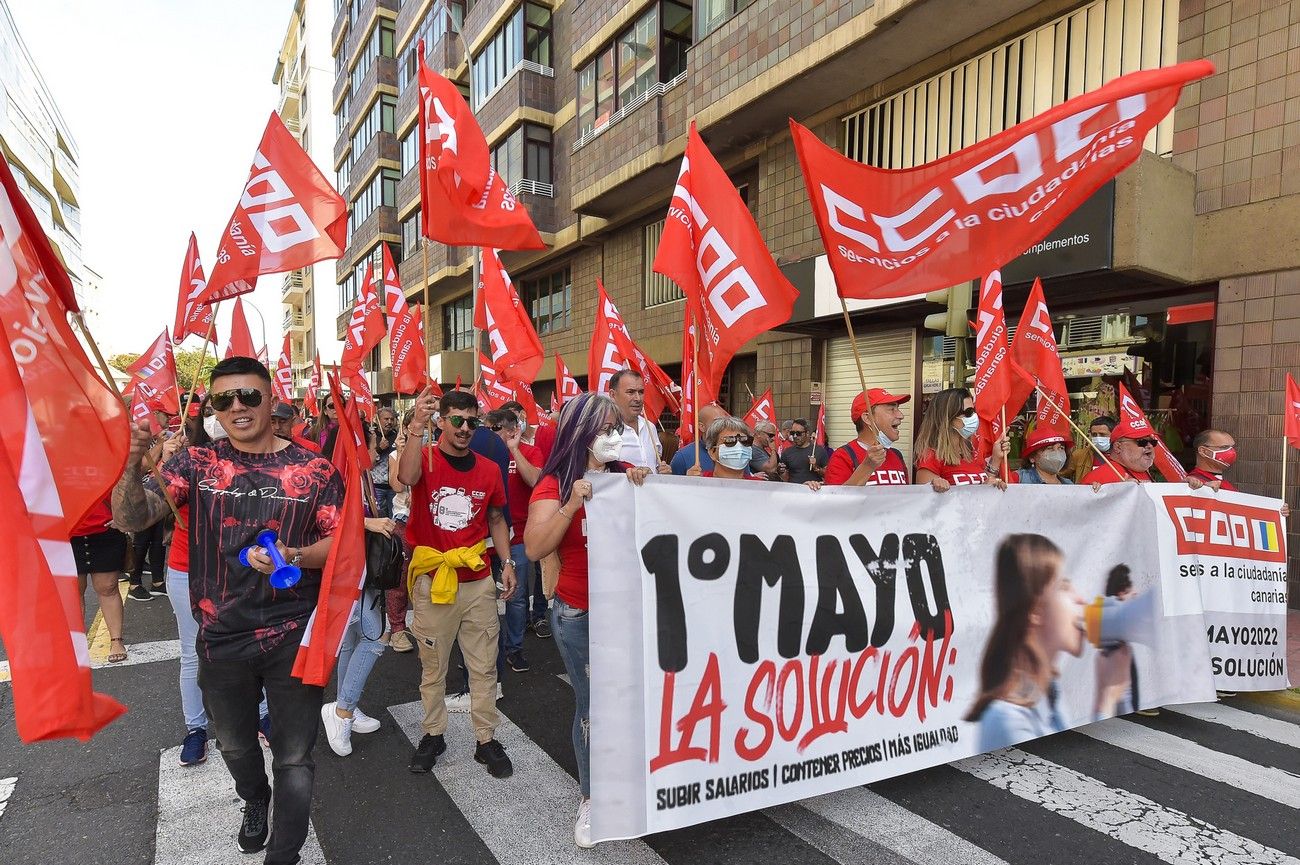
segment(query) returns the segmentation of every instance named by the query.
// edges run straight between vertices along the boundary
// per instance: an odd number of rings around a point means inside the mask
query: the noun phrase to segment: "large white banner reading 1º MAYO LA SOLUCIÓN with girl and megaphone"
[[[1162,576],[1157,510],[1134,484],[597,477],[593,836],[1214,700],[1200,584]]]

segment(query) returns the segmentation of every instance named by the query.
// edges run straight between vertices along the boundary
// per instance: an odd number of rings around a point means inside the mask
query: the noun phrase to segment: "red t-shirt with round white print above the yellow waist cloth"
[[[433,468],[428,453],[433,451]],[[420,459],[420,481],[411,488],[411,516],[407,542],[439,552],[473,546],[489,536],[488,509],[506,507],[506,485],[500,467],[481,454],[447,457],[441,447],[425,449]],[[486,561],[486,558],[484,559]],[[481,580],[491,568],[456,570],[462,583]]]

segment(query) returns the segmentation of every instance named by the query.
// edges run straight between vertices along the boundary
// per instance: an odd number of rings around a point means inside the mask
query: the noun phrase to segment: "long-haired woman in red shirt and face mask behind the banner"
[[[997,476],[997,463],[1010,450],[1006,436],[993,442],[993,457],[984,460],[971,445],[976,432],[979,415],[975,414],[970,390],[950,388],[936,393],[916,431],[916,453],[920,457],[916,459],[915,483],[930,484],[936,493],[972,484],[1006,489],[1006,481]]]

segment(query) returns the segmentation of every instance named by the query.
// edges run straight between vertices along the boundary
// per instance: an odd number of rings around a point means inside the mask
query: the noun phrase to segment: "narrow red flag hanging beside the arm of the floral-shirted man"
[[[333,393],[341,393],[337,379]],[[369,451],[356,444],[356,431],[352,428],[355,408],[352,416],[348,415],[341,401],[334,459],[335,466],[342,463],[339,473],[343,476],[343,510],[339,512],[338,528],[334,529],[334,544],[321,571],[320,598],[294,658],[292,674],[303,684],[329,684],[343,633],[356,605],[361,602],[361,587],[365,585],[365,511],[361,507],[364,470],[360,458]]]

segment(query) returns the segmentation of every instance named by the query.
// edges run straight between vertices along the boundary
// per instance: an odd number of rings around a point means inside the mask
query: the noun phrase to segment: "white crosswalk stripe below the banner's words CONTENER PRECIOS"
[[[962,862],[962,865],[1006,865],[1006,862],[983,847],[959,838],[937,823],[919,817],[901,805],[866,787],[853,787],[838,792],[815,796],[803,801],[768,808],[763,813],[790,830],[818,849],[816,838],[800,831],[800,823],[792,809],[807,809],[819,817],[842,826],[854,835],[864,838],[885,849],[893,851],[906,860],[928,865],[930,862]],[[842,856],[832,851],[838,861]],[[874,861],[866,857],[864,861]]]

